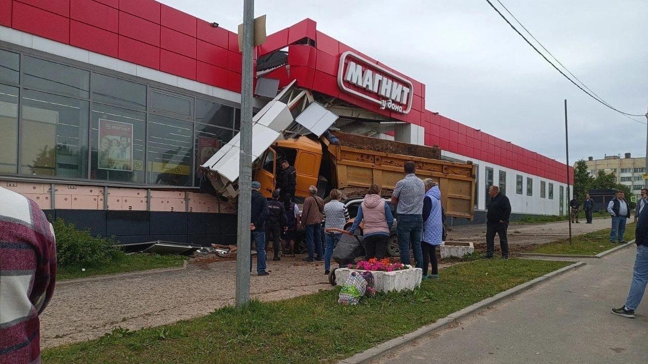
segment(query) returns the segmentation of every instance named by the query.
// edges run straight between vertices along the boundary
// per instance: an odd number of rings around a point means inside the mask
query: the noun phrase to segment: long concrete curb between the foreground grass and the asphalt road
[[[436,332],[442,330],[443,328],[446,328],[446,326],[456,322],[458,319],[466,317],[467,315],[477,312],[478,310],[481,310],[483,308],[487,308],[488,306],[491,306],[492,304],[502,301],[503,299],[507,299],[518,293],[522,293],[523,291],[529,290],[529,288],[536,286],[540,282],[544,282],[545,280],[549,280],[553,277],[557,277],[562,273],[565,273],[566,271],[570,271],[577,267],[584,266],[585,264],[586,264],[585,262],[577,262],[574,264],[570,264],[569,266],[562,267],[561,269],[558,269],[551,273],[547,273],[546,275],[540,276],[536,279],[529,280],[529,282],[520,284],[519,286],[515,286],[513,288],[510,288],[509,290],[500,292],[492,297],[489,297],[487,299],[484,299],[483,301],[472,304],[457,312],[450,313],[450,315],[443,317],[442,319],[438,319],[434,323],[423,326],[418,330],[410,332],[409,334],[396,337],[395,339],[386,341],[376,347],[369,348],[364,352],[355,354],[351,358],[338,361],[338,364],[365,364],[374,361],[376,359],[379,359],[382,356],[389,354],[389,352],[402,347],[403,345],[411,343],[416,339],[420,339],[421,337],[426,336],[432,332]]]

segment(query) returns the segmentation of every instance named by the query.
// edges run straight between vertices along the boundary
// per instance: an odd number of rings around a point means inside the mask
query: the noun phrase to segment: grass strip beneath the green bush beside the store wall
[[[126,273],[132,271],[145,271],[147,269],[179,267],[187,259],[183,255],[149,255],[149,254],[128,254],[115,256],[113,260],[98,266],[72,266],[59,267],[56,272],[56,280],[67,280],[92,277],[95,275],[107,275]],[[86,271],[82,271],[85,268]]]

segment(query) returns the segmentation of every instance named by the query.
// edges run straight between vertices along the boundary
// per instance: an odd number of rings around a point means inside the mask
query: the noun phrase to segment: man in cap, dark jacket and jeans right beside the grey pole
[[[261,184],[252,181],[252,203],[249,228],[251,238],[257,247],[257,275],[269,275],[266,272],[266,218],[268,218],[268,200],[259,192]],[[252,256],[249,257],[249,270],[252,270]]]

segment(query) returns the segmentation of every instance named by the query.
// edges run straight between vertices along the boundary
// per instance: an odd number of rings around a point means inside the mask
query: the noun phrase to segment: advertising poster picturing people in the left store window
[[[133,124],[99,119],[98,168],[133,170]]]

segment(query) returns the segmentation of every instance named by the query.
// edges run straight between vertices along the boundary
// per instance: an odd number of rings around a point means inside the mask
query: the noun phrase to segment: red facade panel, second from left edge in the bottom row
[[[69,43],[70,20],[34,6],[14,1],[12,27],[44,38]]]

